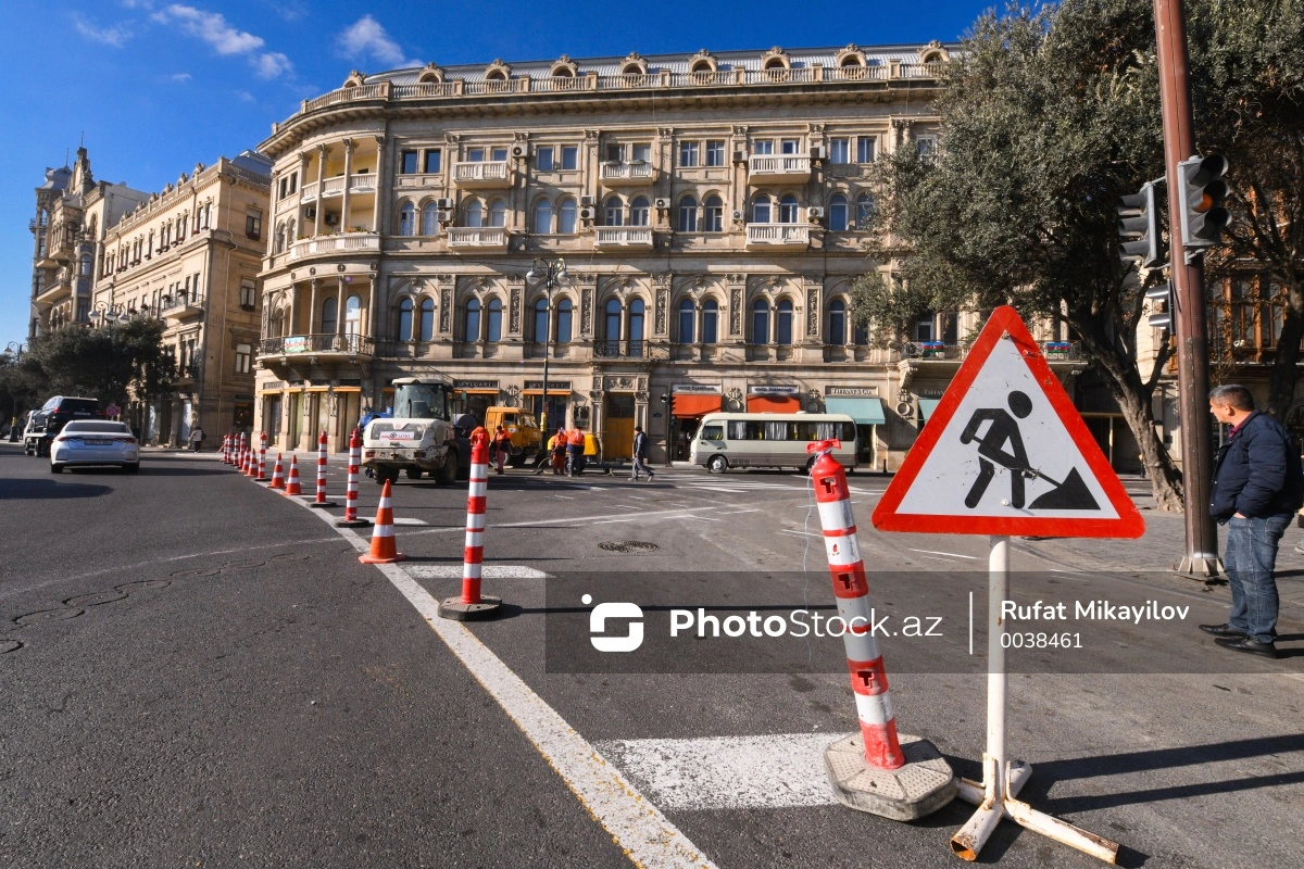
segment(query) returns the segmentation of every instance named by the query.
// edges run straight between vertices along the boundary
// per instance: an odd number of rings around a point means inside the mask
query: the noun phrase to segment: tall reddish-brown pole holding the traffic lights
[[[1209,423],[1209,330],[1205,322],[1205,274],[1198,255],[1187,263],[1181,233],[1185,207],[1178,184],[1178,163],[1196,154],[1196,124],[1191,113],[1191,65],[1181,0],[1154,0],[1154,27],[1163,106],[1163,163],[1168,177],[1168,237],[1176,301],[1178,397],[1181,408],[1181,472],[1185,492],[1187,551],[1179,573],[1196,578],[1221,576],[1218,528],[1209,516],[1213,473]]]

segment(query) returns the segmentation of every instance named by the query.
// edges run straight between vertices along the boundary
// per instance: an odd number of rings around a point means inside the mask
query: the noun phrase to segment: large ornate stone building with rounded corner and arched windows
[[[936,145],[948,47],[659,55],[377,76],[305,100],[275,160],[256,427],[333,449],[398,377],[544,405],[627,456],[715,409],[845,410],[896,468],[966,324],[852,326],[879,155]],[[527,280],[537,259],[569,281]],[[540,263],[542,264],[542,263]]]

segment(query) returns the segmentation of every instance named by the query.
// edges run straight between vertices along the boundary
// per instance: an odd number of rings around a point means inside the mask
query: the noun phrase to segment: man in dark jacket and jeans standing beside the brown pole
[[[1223,567],[1231,584],[1226,624],[1202,624],[1224,649],[1277,657],[1277,543],[1304,503],[1300,455],[1277,420],[1254,410],[1243,386],[1209,393],[1209,412],[1232,426],[1218,451],[1209,515],[1227,525]]]

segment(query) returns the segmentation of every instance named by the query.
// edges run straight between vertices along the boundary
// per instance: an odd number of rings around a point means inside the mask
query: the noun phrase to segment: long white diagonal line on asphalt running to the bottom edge
[[[306,507],[305,507],[306,509]],[[313,511],[322,521],[334,521]],[[368,542],[348,528],[336,533],[359,552]],[[460,621],[441,619],[438,602],[396,564],[376,565],[426,620],[430,629],[462,661],[498,705],[557,770],[588,813],[612,834],[615,844],[642,869],[717,869],[698,846],[670,823],[619,770],[566,723],[507,664]]]

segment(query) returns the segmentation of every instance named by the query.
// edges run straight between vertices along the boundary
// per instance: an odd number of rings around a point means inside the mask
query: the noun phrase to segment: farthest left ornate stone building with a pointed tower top
[[[90,322],[104,232],[147,197],[125,184],[95,181],[85,147],[77,149],[70,168],[46,169],[46,181],[37,188],[37,214],[27,224],[33,235],[27,337]]]

